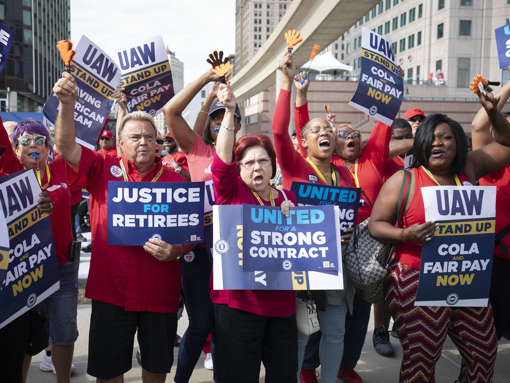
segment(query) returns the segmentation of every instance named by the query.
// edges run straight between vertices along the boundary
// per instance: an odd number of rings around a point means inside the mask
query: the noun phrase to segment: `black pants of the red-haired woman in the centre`
[[[258,383],[260,363],[266,383],[296,383],[296,316],[264,317],[215,304],[222,383]]]

